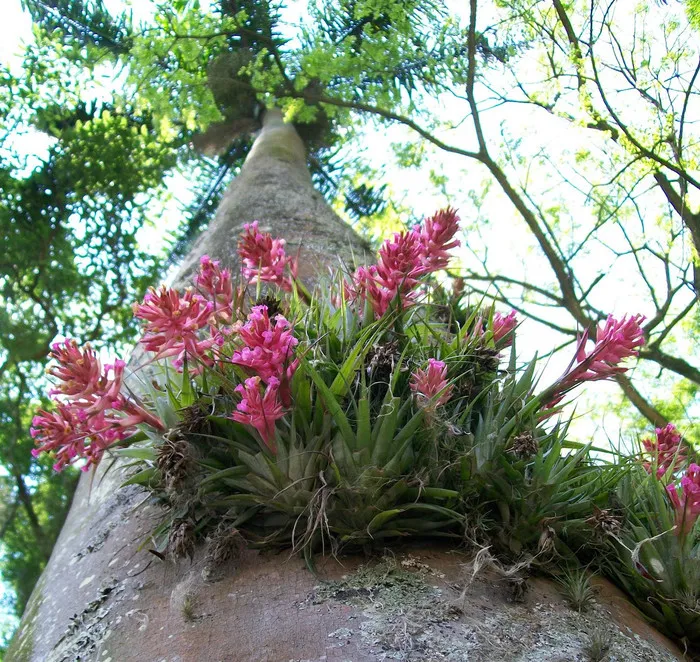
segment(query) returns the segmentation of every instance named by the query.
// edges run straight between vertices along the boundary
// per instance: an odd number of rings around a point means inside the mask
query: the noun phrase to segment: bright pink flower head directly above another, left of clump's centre
[[[232,363],[247,368],[266,384],[271,379],[292,378],[299,365],[299,361],[293,359],[293,350],[299,341],[282,315],[270,319],[267,306],[254,306],[248,321],[238,329],[238,337],[245,346],[233,353]]]

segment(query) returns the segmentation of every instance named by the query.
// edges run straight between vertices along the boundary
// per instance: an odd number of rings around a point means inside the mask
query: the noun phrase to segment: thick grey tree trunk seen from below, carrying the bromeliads
[[[285,237],[288,253],[299,247],[302,278],[365,250],[313,189],[304,146],[276,112],[177,284],[203,254],[233,266],[253,220]],[[516,604],[512,583],[493,571],[467,581],[468,559],[438,545],[398,550],[359,572],[358,559],[326,559],[320,571],[336,581],[322,584],[288,553],[245,552],[212,581],[201,551],[180,562],[148,552],[162,513],[138,488],[120,489],[123,479],[104,467],[82,477],[8,662],[573,660],[601,632],[617,659],[681,659],[607,585],[590,615],[544,580]]]

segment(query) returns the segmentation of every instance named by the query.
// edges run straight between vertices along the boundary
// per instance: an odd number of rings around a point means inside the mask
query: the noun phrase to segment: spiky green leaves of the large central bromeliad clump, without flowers
[[[155,373],[154,406],[173,430],[118,452],[140,467],[129,482],[170,504],[158,551],[173,551],[183,522],[204,538],[223,521],[248,544],[307,556],[407,536],[459,542],[482,522],[479,535],[503,555],[548,561],[572,531],[589,529],[584,519],[607,503],[616,471],[567,441],[568,426],[538,422],[534,363],[516,368],[513,353],[499,369],[505,341],[476,330],[478,309],[465,317],[455,299],[445,315],[426,302],[367,322],[332,303],[335,290],[289,304],[300,364],[274,451],[229,418],[238,367]],[[437,409],[409,385],[433,357],[454,389]]]

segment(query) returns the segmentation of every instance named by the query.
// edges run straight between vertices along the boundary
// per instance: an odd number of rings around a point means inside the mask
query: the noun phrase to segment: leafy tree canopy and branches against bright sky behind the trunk
[[[24,0],[32,37],[0,70],[0,530],[17,610],[74,483],[30,455],[48,345],[133,338],[130,304],[211,218],[265,107],[369,233],[429,211],[396,173],[459,207],[472,225],[452,275],[562,345],[611,305],[645,314],[618,413],[697,441],[696,4]],[[154,250],[144,228],[180,194]]]

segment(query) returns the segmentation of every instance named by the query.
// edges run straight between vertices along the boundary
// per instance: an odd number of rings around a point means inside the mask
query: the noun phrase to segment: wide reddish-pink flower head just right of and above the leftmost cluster
[[[215,339],[200,340],[198,331],[209,324],[214,303],[205,301],[191,289],[180,295],[163,285],[151,288],[143,303],[134,304],[134,317],[146,321],[145,333],[139,342],[156,358],[167,356],[202,357],[215,344]]]

